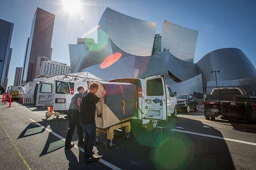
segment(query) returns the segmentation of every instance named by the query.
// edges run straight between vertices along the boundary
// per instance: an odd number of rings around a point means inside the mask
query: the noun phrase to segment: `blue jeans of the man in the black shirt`
[[[96,124],[89,124],[89,125],[83,125],[81,126],[84,129],[84,153],[85,153],[85,158],[89,159],[92,157],[92,150],[96,138]]]

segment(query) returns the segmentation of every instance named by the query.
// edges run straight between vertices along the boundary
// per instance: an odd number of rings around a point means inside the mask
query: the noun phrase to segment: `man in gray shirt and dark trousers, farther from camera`
[[[71,98],[71,103],[68,109],[68,131],[66,134],[65,150],[70,149],[74,146],[74,143],[71,144],[71,141],[75,128],[78,135],[78,146],[83,147],[84,144],[84,130],[79,123],[79,109],[83,93],[84,87],[78,86],[77,92],[74,93]]]

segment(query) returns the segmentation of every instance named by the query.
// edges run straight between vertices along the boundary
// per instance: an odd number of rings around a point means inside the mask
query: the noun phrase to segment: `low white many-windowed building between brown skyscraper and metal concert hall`
[[[42,61],[40,75],[56,75],[69,73],[71,73],[70,65],[51,60]]]

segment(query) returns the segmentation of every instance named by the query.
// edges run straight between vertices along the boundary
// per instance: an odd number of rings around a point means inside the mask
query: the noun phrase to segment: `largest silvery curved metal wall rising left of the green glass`
[[[106,8],[98,24],[98,42],[110,38],[132,55],[151,55],[156,23],[133,18]]]

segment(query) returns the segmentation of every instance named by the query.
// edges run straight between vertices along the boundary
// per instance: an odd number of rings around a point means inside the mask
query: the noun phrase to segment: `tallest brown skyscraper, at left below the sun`
[[[26,80],[26,82],[34,79],[39,73],[37,63],[38,60],[41,59],[38,59],[38,57],[52,58],[51,43],[54,19],[54,14],[42,10],[41,8],[36,9],[24,63],[23,80]]]

